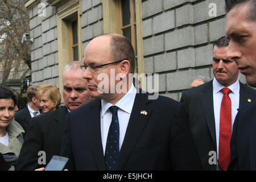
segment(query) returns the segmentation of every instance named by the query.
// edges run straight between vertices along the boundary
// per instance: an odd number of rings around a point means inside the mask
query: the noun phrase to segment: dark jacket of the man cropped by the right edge
[[[256,102],[237,114],[231,139],[229,170],[256,170]]]

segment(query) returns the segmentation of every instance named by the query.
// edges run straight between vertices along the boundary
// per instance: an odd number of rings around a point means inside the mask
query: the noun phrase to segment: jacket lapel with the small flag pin
[[[117,162],[117,170],[122,170],[125,166],[138,139],[141,137],[148,119],[150,118],[152,109],[147,105],[147,103],[150,102],[147,99],[147,96],[148,94],[137,93],[135,97],[133,110],[131,111],[129,123],[126,129],[125,139],[123,140]],[[141,111],[146,111],[147,115],[141,114]]]

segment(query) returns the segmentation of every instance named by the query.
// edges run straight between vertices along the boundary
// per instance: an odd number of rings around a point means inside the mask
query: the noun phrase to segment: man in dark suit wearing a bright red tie
[[[228,168],[237,110],[256,100],[256,91],[238,80],[236,62],[226,57],[228,44],[224,37],[213,44],[213,81],[182,93],[171,139],[173,169]]]

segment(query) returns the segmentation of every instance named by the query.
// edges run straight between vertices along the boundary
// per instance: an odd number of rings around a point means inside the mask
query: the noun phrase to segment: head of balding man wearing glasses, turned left
[[[129,88],[129,82],[123,80],[129,79],[129,73],[134,72],[134,49],[122,35],[101,35],[86,46],[84,64],[84,78],[88,80],[90,95],[110,101],[120,93],[115,90],[116,85],[121,84],[119,82],[125,85],[122,88]],[[115,76],[119,78],[115,79]]]

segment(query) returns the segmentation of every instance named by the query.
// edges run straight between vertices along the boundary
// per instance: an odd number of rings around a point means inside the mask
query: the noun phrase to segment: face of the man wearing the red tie
[[[233,60],[228,60],[226,51],[228,47],[213,48],[213,74],[216,80],[223,86],[232,85],[237,81],[238,69],[237,64]]]

